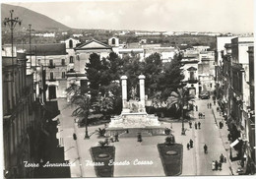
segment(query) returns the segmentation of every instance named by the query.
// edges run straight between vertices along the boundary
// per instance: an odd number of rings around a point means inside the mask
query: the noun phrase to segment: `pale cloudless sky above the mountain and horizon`
[[[253,32],[254,0],[3,1],[70,28]]]

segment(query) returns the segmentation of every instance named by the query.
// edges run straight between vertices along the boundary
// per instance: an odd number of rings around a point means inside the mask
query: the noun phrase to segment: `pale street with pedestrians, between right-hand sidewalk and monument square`
[[[223,146],[223,141],[220,136],[220,129],[215,122],[215,118],[211,109],[207,107],[207,103],[213,101],[211,99],[197,100],[196,104],[199,107],[199,112],[205,112],[205,119],[196,119],[196,122],[201,122],[201,129],[195,130],[194,139],[196,143],[196,159],[197,159],[197,175],[231,175],[228,168],[228,163],[223,163],[223,170],[213,171],[212,161],[220,160],[221,153],[226,156]],[[198,112],[195,112],[197,115]],[[204,153],[204,145],[208,146],[208,153]]]

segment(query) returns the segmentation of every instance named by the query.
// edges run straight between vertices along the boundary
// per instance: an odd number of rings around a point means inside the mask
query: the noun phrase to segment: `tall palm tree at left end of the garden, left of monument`
[[[80,87],[76,84],[71,84],[71,86],[66,89],[67,96],[69,98],[70,106],[75,106],[75,110],[72,112],[72,116],[76,116],[81,119],[82,123],[86,126],[86,139],[89,139],[88,135],[88,116],[90,114],[90,107],[92,106],[91,98],[87,93],[81,94]]]

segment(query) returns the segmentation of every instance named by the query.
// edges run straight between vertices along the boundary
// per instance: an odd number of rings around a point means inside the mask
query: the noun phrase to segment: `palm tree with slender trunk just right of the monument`
[[[172,106],[176,107],[176,110],[181,110],[182,128],[181,135],[185,135],[184,129],[184,109],[188,105],[193,97],[189,95],[188,89],[177,89],[177,91],[171,91],[170,96],[167,98],[167,108]]]

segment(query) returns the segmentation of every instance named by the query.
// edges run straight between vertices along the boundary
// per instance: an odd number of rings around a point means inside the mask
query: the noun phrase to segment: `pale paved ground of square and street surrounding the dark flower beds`
[[[94,134],[90,140],[84,140],[85,128],[78,128],[74,124],[74,117],[71,116],[72,109],[66,107],[65,99],[59,99],[58,101],[61,111],[58,116],[60,119],[60,143],[65,148],[65,159],[75,163],[75,166],[71,166],[71,176],[96,177],[94,166],[88,165],[87,162],[88,160],[92,161],[90,148],[95,147],[97,142],[102,139],[98,139],[97,135]],[[197,118],[195,121],[201,122],[200,130],[195,130],[194,122],[192,129],[189,129],[188,123],[185,123],[186,135],[181,136],[181,123],[162,123],[164,127],[172,127],[172,134],[175,136],[176,143],[183,145],[182,175],[231,175],[228,161],[223,164],[222,171],[212,170],[212,161],[220,160],[221,153],[228,157],[228,152],[224,148],[224,146],[228,148],[228,145],[224,144],[223,138],[225,134],[218,128],[212,109],[207,108],[206,104],[210,101],[210,99],[195,101],[199,111],[205,112],[206,115],[205,119],[198,119],[198,112],[194,112],[194,116]],[[216,114],[216,116],[218,115]],[[217,120],[220,119],[222,120],[219,115]],[[103,126],[90,127],[89,133],[94,133],[97,128],[103,128]],[[77,134],[77,141],[73,140],[73,133]],[[222,134],[223,136],[221,136]],[[114,167],[114,176],[164,176],[157,144],[163,143],[165,138],[166,136],[144,137],[142,143],[138,143],[136,138],[120,138],[120,142],[111,144],[116,149],[115,161],[127,160],[131,162],[128,166],[116,165]],[[190,139],[194,141],[194,148],[186,149]],[[204,153],[203,149],[205,144],[209,150],[207,154]],[[153,164],[134,165],[133,161],[136,159],[153,161]]]

